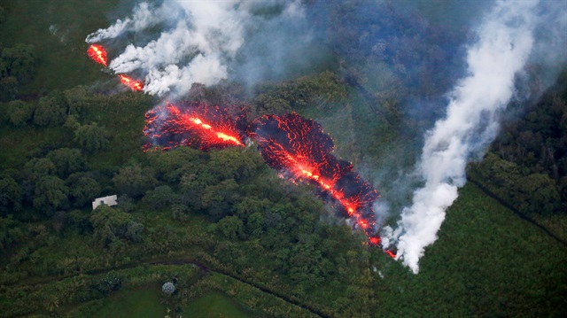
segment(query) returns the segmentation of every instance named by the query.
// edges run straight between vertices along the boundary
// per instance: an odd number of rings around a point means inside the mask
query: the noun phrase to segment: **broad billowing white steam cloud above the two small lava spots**
[[[151,41],[129,44],[109,67],[116,73],[144,74],[144,91],[163,96],[186,93],[194,82],[211,85],[227,79],[237,68],[238,59],[246,63],[248,57],[239,52],[249,37],[276,32],[278,25],[300,25],[303,18],[298,2],[175,0],[158,7],[142,3],[136,6],[132,18],[119,19],[113,26],[87,36],[86,41],[98,43],[147,32]],[[155,29],[160,30],[159,35],[155,35]],[[282,27],[277,32],[281,35]],[[297,36],[301,35],[308,36],[298,32]],[[273,48],[263,53],[276,51]],[[276,63],[278,58],[272,61]]]

